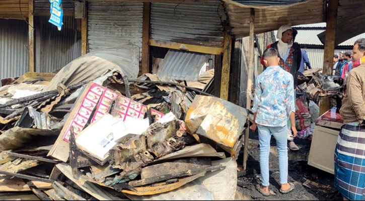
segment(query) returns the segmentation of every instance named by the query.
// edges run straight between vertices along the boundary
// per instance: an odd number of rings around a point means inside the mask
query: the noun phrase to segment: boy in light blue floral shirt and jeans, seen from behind
[[[256,186],[265,196],[269,191],[269,154],[271,135],[276,140],[279,157],[280,192],[288,193],[294,189],[293,183],[287,182],[287,120],[290,119],[293,136],[297,136],[295,127],[295,97],[293,75],[278,66],[279,57],[274,48],[263,53],[263,61],[268,66],[256,79],[255,97],[252,112],[254,123],[252,131],[258,128],[260,144],[260,169],[262,183]]]

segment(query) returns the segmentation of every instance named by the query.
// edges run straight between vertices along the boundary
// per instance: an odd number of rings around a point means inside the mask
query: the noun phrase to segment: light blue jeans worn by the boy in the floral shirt
[[[279,156],[280,184],[287,183],[287,126],[269,127],[257,125],[260,143],[260,169],[263,186],[269,185],[269,154],[271,135],[276,140],[277,154]]]

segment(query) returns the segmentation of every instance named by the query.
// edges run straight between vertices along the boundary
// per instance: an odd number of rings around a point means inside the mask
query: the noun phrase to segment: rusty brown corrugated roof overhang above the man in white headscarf
[[[272,1],[273,2],[273,1]],[[292,26],[304,23],[324,22],[325,0],[309,0],[306,3],[291,6],[279,7],[277,10],[256,9],[255,10],[255,34],[277,30],[281,25],[291,24]],[[225,3],[229,18],[231,34],[236,38],[249,36],[250,33],[250,9],[241,8],[237,5]]]

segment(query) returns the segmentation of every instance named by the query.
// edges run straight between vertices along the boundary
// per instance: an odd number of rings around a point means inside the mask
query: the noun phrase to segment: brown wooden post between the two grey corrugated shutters
[[[143,3],[143,22],[142,22],[142,73],[150,72],[150,8],[151,3]]]

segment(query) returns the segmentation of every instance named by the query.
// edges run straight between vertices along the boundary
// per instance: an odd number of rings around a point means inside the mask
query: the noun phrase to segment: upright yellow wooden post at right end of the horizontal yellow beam
[[[230,85],[232,37],[225,31],[224,53],[222,62],[221,98],[228,100],[228,89]]]

